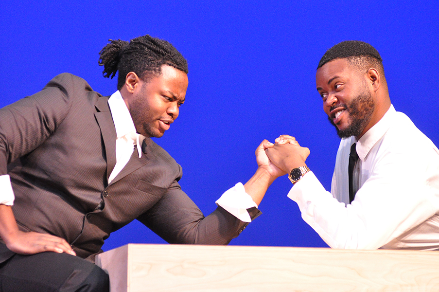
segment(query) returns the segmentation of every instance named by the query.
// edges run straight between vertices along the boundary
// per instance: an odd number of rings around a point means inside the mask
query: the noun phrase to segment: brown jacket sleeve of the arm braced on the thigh
[[[88,87],[83,79],[63,73],[42,91],[0,109],[0,176],[7,174],[9,163],[40,146],[53,133],[70,109],[69,92],[78,84]],[[12,204],[13,193],[1,198],[5,204]]]

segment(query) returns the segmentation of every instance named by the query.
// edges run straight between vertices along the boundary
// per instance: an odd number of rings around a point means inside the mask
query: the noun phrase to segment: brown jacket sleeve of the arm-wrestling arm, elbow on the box
[[[248,208],[247,213],[251,220],[261,214],[256,207]],[[179,244],[228,244],[248,225],[221,206],[205,217],[177,180],[137,219],[167,242]]]

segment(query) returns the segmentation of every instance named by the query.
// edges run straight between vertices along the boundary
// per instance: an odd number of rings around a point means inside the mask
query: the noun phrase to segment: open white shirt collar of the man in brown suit
[[[108,106],[110,107],[111,116],[113,117],[114,128],[116,128],[117,138],[129,137],[133,140],[134,145],[137,144],[137,151],[139,158],[141,157],[141,145],[145,136],[136,132],[133,119],[123,101],[120,91],[114,92],[108,99]]]

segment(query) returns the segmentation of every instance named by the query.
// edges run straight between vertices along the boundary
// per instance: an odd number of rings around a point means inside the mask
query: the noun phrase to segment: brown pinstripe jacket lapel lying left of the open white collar
[[[101,128],[101,135],[105,146],[106,156],[106,178],[111,174],[111,171],[116,165],[116,129],[114,128],[113,117],[111,116],[110,108],[108,107],[108,96],[101,96],[98,98],[95,112],[96,121]]]

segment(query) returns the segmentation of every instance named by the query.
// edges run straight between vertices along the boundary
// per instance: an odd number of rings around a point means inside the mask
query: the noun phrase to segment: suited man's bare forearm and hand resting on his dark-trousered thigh
[[[55,252],[76,256],[69,243],[63,238],[18,230],[11,206],[0,204],[0,222],[0,237],[7,248],[14,253],[33,255],[42,252]]]

